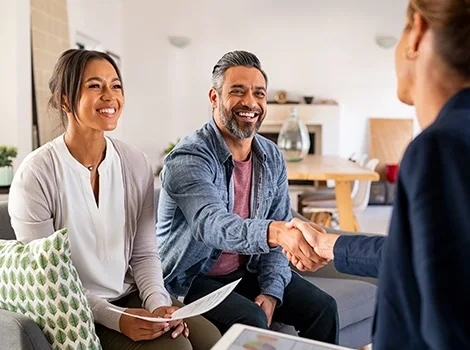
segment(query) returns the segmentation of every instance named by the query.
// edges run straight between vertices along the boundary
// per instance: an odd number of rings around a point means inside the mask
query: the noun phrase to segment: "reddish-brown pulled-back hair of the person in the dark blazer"
[[[415,12],[435,34],[436,53],[464,78],[470,78],[470,0],[410,0],[408,26]]]

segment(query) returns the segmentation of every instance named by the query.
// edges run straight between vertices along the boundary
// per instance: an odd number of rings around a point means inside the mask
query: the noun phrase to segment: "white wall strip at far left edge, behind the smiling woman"
[[[0,1],[0,144],[18,147],[16,167],[32,149],[29,0]]]

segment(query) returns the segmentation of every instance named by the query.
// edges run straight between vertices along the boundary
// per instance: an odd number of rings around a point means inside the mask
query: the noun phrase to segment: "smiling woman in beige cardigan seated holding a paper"
[[[201,317],[153,323],[109,310],[112,302],[130,314],[166,317],[178,308],[157,254],[148,158],[104,135],[117,127],[124,107],[119,67],[105,53],[68,50],[49,88],[49,107],[65,133],[30,154],[15,175],[8,209],[18,240],[68,229],[72,262],[104,349],[211,348],[220,334]],[[203,336],[192,339],[188,326]]]

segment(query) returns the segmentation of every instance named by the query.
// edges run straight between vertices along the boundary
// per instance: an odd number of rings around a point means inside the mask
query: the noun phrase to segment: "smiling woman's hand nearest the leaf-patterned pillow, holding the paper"
[[[145,309],[126,309],[125,312],[144,317],[155,316]],[[168,332],[170,324],[168,322],[150,322],[128,315],[121,315],[119,329],[122,334],[128,336],[133,341],[152,340]]]

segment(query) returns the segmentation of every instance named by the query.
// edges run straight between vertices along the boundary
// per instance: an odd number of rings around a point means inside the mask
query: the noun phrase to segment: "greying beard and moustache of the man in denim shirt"
[[[224,127],[230,131],[233,136],[240,140],[255,136],[264,120],[263,111],[252,110],[249,108],[237,109],[237,111],[256,112],[258,113],[258,120],[256,123],[239,121],[231,110],[226,109],[222,103],[219,103],[219,115]]]

